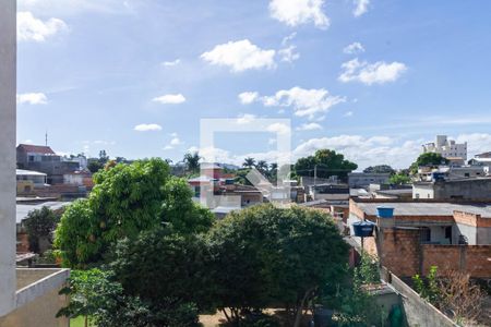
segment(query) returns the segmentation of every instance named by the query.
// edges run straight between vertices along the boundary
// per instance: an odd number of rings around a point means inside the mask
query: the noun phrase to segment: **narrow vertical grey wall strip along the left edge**
[[[0,1],[0,316],[15,303],[15,5]]]

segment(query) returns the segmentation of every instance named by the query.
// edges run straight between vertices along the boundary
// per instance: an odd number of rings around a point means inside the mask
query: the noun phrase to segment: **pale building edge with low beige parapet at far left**
[[[57,318],[68,269],[16,268],[16,1],[0,1],[0,326],[69,326]]]

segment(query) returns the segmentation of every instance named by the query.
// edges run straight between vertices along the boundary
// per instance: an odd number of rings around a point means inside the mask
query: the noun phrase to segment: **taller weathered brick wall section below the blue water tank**
[[[419,274],[419,230],[385,228],[379,235],[379,257],[383,266],[399,277]]]

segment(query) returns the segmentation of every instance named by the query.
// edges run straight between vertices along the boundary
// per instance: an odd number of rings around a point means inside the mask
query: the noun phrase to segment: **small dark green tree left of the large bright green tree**
[[[27,215],[23,223],[27,232],[29,250],[32,252],[39,253],[43,250],[43,242],[52,243],[52,232],[58,221],[60,221],[60,215],[48,207],[32,210]]]

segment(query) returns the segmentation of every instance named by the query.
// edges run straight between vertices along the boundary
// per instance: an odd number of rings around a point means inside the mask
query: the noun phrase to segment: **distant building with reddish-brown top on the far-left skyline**
[[[49,146],[20,144],[16,148],[17,168],[44,172],[48,184],[62,184],[63,174],[80,170],[80,162],[55,154]]]

